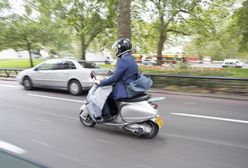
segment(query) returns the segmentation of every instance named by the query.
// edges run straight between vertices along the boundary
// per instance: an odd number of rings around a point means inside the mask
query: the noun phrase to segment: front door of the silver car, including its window
[[[53,71],[54,63],[44,62],[34,69],[31,80],[34,86],[50,86],[51,85],[51,72]]]

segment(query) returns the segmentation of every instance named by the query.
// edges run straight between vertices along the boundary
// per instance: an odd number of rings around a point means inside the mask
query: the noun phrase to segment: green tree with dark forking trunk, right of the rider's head
[[[202,15],[205,10],[216,12],[218,9],[223,13],[222,8],[231,3],[232,0],[149,0],[143,1],[148,11],[152,14],[154,27],[158,33],[157,40],[157,60],[158,64],[162,63],[162,52],[164,44],[168,38],[175,34],[192,35],[204,34],[214,31],[212,20],[217,19],[216,16]],[[222,8],[221,8],[222,7]],[[207,14],[207,13],[206,13]],[[211,20],[212,17],[213,19]],[[199,27],[201,25],[201,27]],[[198,31],[198,32],[197,32]],[[212,32],[211,32],[212,33]]]

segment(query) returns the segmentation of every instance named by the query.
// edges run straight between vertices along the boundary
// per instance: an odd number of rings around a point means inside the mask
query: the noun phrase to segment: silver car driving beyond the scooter
[[[17,80],[27,90],[43,87],[68,90],[72,95],[80,95],[83,90],[88,90],[93,85],[90,77],[92,71],[104,75],[109,70],[86,61],[52,59],[21,71]]]

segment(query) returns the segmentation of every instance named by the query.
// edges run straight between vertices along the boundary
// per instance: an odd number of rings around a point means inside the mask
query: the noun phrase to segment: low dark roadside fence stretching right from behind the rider
[[[204,93],[231,93],[248,96],[248,78],[145,74],[153,79],[153,87]]]

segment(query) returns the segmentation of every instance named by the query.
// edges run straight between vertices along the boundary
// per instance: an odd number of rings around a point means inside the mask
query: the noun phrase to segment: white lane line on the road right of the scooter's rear
[[[229,122],[235,122],[235,123],[248,124],[247,120],[238,120],[238,119],[231,119],[231,118],[221,118],[221,117],[195,115],[195,114],[185,114],[185,113],[171,113],[171,114],[172,115],[177,115],[177,116],[184,116],[184,117],[204,118],[204,119],[210,119],[210,120],[229,121]]]

